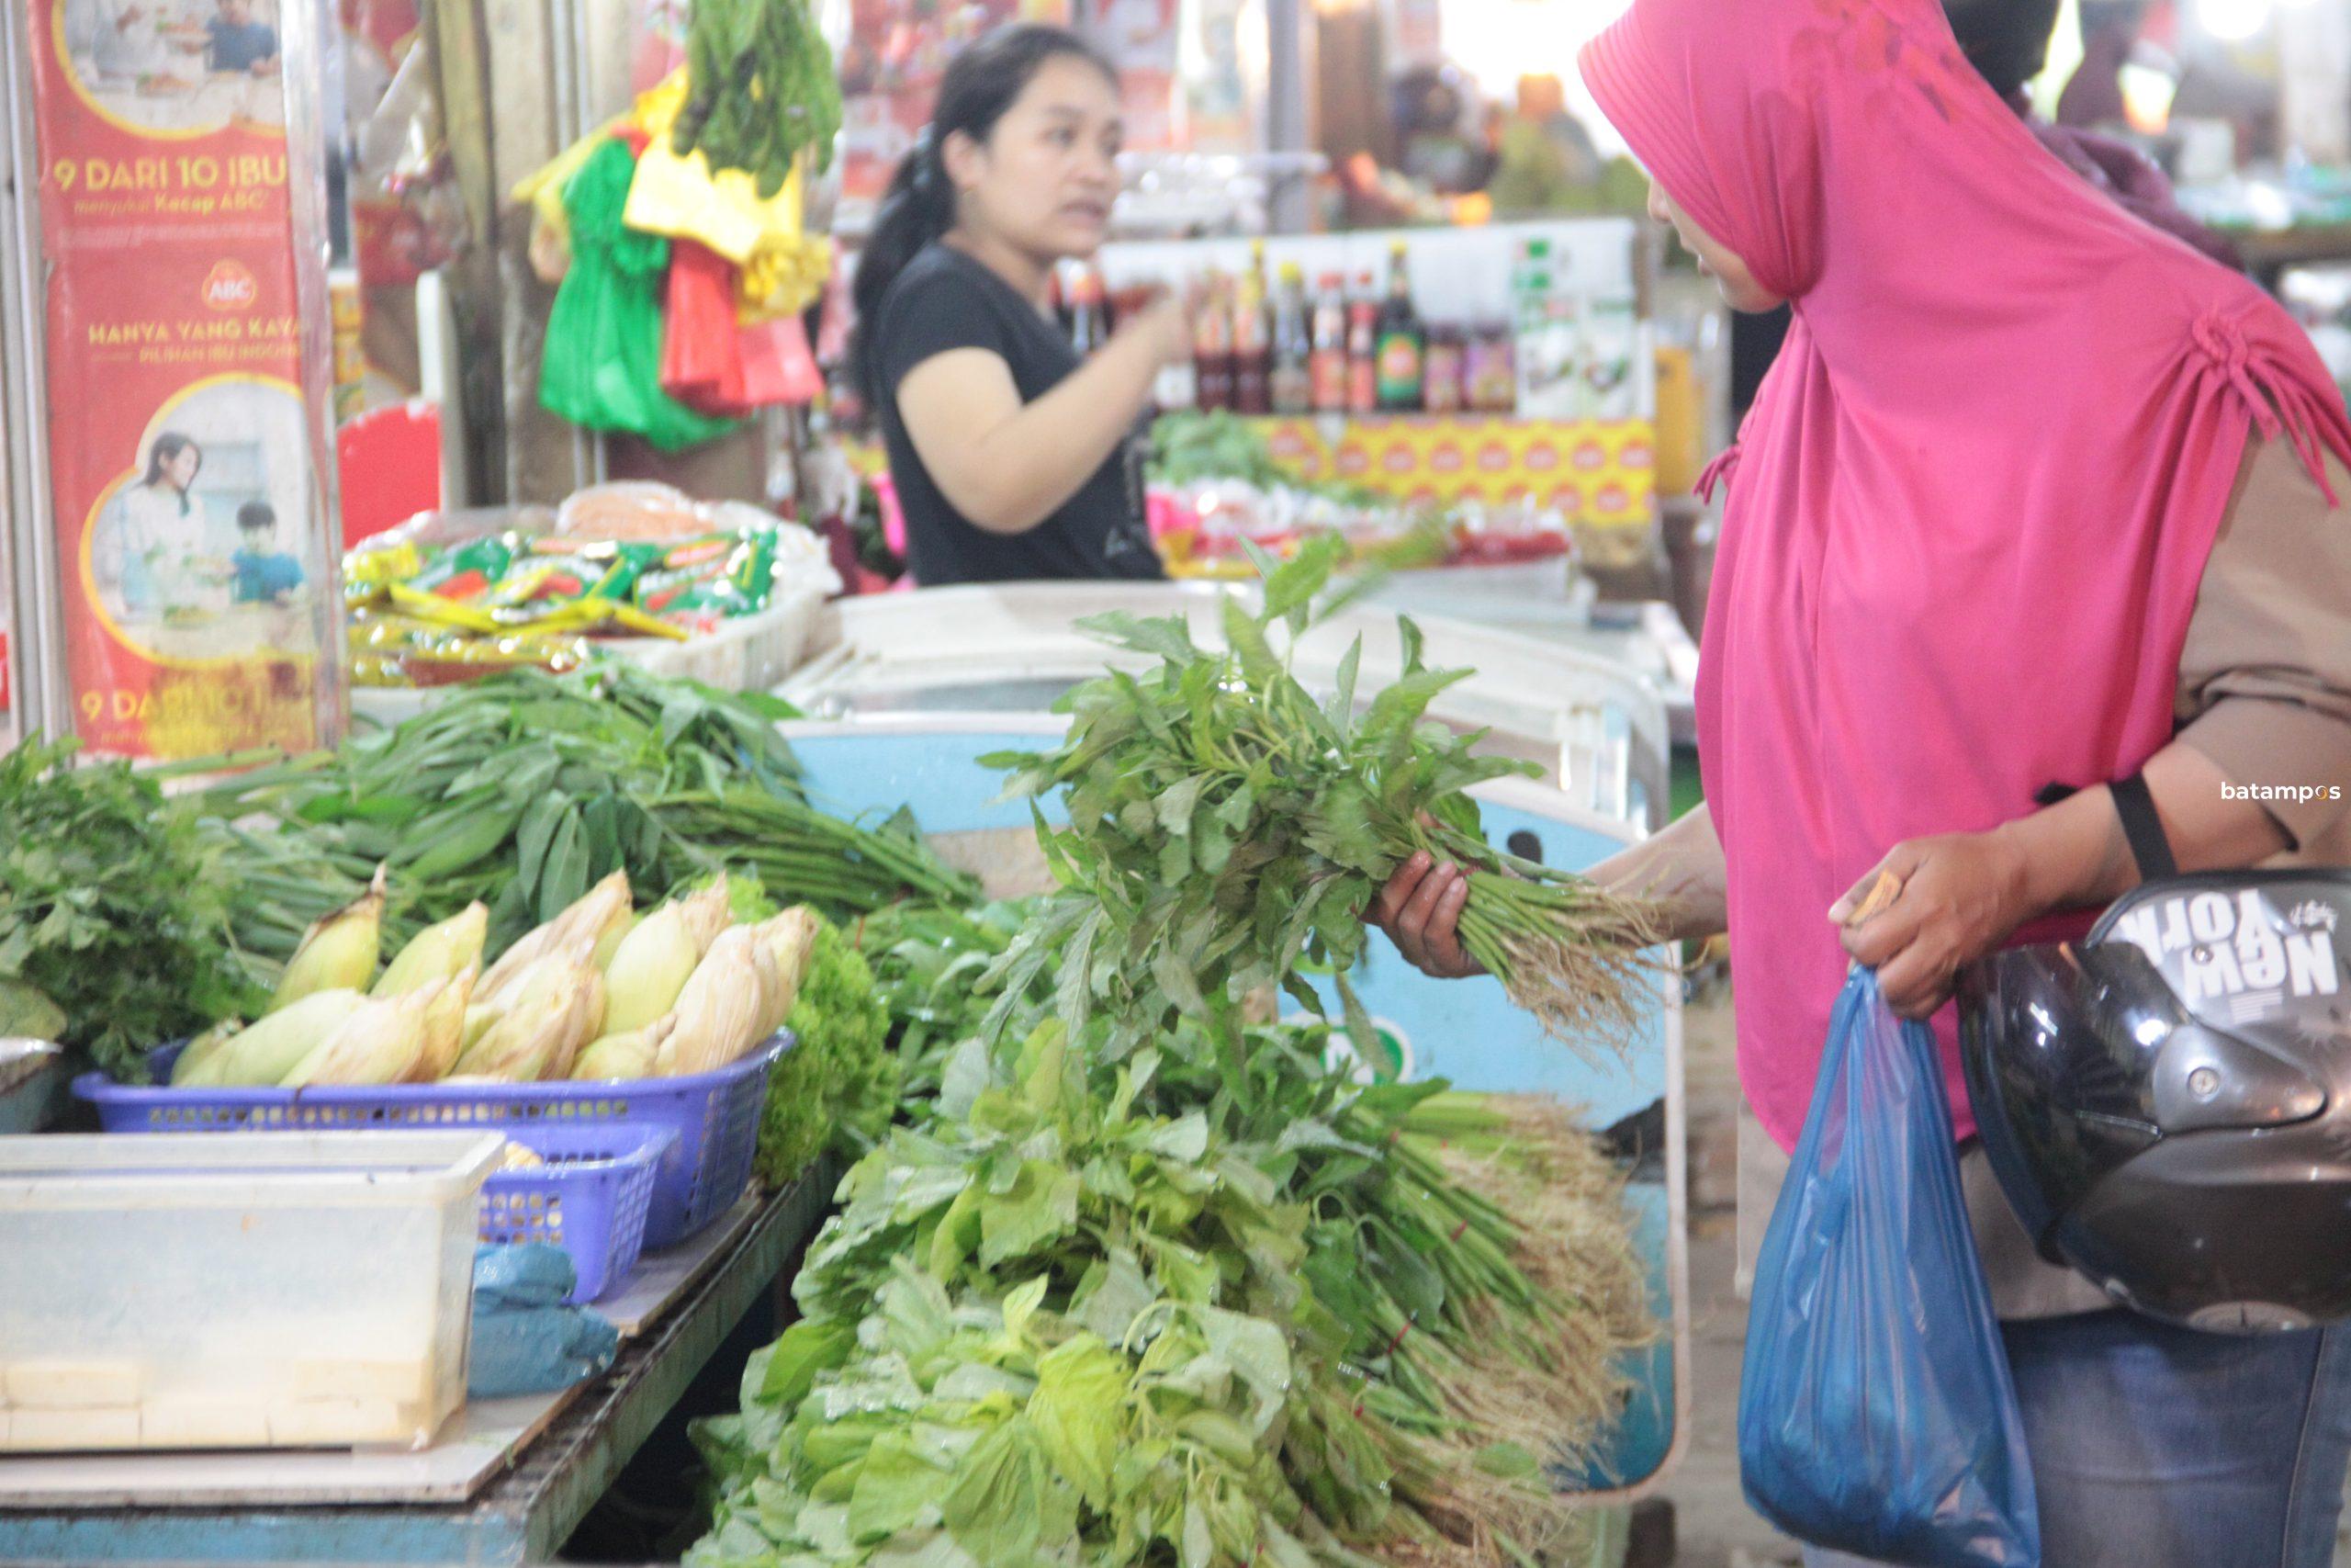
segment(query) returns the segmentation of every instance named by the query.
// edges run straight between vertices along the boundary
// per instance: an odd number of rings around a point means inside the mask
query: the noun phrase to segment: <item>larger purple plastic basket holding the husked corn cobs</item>
[[[677,1143],[661,1157],[644,1218],[644,1246],[658,1251],[703,1229],[750,1187],[759,1152],[766,1070],[792,1048],[778,1030],[757,1051],[717,1072],[614,1084],[393,1084],[386,1088],[132,1088],[85,1072],[73,1093],[99,1110],[108,1133],[296,1133],[388,1126],[628,1124],[665,1126]],[[179,1046],[148,1058],[169,1084]]]

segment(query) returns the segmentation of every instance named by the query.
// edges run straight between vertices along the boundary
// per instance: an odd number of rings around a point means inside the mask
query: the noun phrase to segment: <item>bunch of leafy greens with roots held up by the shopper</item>
[[[1364,910],[1415,851],[1469,872],[1462,945],[1545,1030],[1582,1044],[1632,1027],[1653,919],[1479,832],[1465,790],[1535,769],[1483,757],[1481,736],[1425,717],[1469,672],[1429,670],[1420,630],[1401,621],[1404,670],[1361,712],[1361,639],[1328,703],[1291,675],[1277,637],[1295,644],[1314,623],[1338,559],[1333,541],[1279,564],[1260,552],[1265,604],[1251,614],[1225,599],[1223,649],[1194,644],[1180,616],[1086,621],[1159,668],[1074,686],[1058,703],[1070,715],[1058,748],[983,759],[1011,773],[1006,795],[1063,792],[1070,811],[1067,827],[1037,813],[1063,891],[997,961],[994,1027],[1053,959],[1063,1023],[1081,1032],[1107,1016],[1112,1056],[1178,1018],[1230,1046],[1251,992],[1281,985],[1319,1013],[1302,976],[1314,964],[1335,971],[1349,1032],[1371,1039],[1347,971],[1364,952]]]

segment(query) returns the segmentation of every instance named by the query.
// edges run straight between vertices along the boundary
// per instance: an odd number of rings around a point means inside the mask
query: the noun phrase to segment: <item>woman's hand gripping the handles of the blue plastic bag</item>
[[[1904,839],[1829,905],[1829,919],[1843,926],[1846,952],[1878,971],[1886,1006],[1925,1018],[1951,999],[1961,964],[1994,952],[2041,914],[2029,872],[2027,856],[2003,832]],[[1881,875],[1900,882],[1900,891],[1853,922]]]

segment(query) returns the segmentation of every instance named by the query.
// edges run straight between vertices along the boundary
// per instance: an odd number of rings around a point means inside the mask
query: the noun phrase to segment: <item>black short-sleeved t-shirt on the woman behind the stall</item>
[[[1143,442],[1128,440],[1074,496],[1025,534],[990,534],[940,494],[898,416],[898,383],[952,348],[985,348],[1013,371],[1020,402],[1037,402],[1077,369],[1077,350],[1020,292],[950,244],[931,244],[891,282],[875,331],[882,442],[907,567],[926,588],[1025,578],[1159,578],[1166,571],[1143,520]]]

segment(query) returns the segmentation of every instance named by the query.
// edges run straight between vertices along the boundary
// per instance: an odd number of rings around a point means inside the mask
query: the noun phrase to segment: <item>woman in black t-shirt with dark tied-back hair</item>
[[[1119,85],[1072,33],[964,49],[858,259],[851,369],[882,418],[917,583],[1157,578],[1136,423],[1192,353],[1183,301],[1086,362],[1053,263],[1091,256],[1119,193]]]

